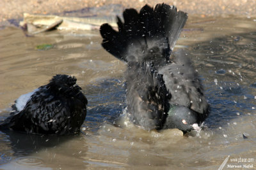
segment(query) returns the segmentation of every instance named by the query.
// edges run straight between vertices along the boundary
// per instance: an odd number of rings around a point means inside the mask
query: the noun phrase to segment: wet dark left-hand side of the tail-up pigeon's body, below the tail
[[[170,99],[161,74],[148,62],[129,62],[127,80],[127,110],[134,124],[143,129],[161,129],[167,116]]]

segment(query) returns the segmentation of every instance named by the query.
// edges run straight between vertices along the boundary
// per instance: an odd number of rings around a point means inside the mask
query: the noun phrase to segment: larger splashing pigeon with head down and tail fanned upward
[[[188,19],[175,6],[148,5],[117,17],[118,31],[100,27],[102,46],[127,63],[127,110],[145,130],[178,128],[190,131],[209,113],[202,85],[187,54],[170,54]]]

